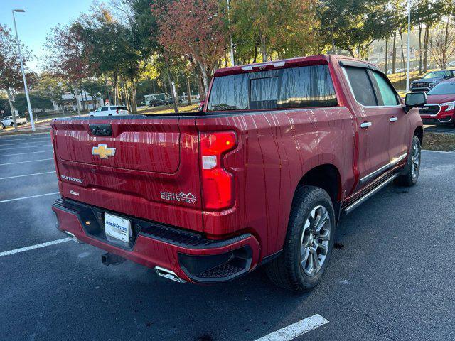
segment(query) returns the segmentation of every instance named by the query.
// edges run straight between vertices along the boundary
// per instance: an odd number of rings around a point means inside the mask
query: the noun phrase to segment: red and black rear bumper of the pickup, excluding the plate
[[[106,239],[104,232],[104,212],[110,211],[63,198],[53,202],[52,210],[57,215],[58,229],[70,232],[81,242],[150,268],[173,271],[183,281],[230,281],[255,269],[259,259],[259,243],[252,234],[206,239],[193,232],[117,214],[132,221],[133,236],[129,244],[114,243]]]

